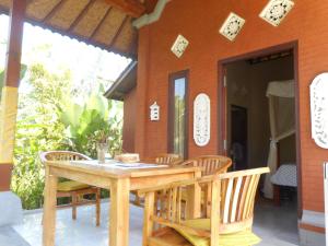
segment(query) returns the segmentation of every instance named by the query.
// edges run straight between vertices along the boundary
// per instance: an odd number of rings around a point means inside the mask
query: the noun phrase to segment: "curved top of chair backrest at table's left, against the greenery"
[[[84,154],[72,152],[72,151],[47,151],[42,152],[39,157],[43,163],[46,161],[80,161],[80,160],[91,160]]]

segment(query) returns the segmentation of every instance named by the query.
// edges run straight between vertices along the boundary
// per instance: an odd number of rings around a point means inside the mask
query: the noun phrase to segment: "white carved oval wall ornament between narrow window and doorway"
[[[211,138],[211,102],[210,97],[200,93],[194,101],[194,140],[204,147]]]

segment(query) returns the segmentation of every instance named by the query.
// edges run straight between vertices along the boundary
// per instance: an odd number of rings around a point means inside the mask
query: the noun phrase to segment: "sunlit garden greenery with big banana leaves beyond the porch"
[[[12,190],[24,209],[36,209],[43,204],[45,181],[39,153],[71,150],[95,157],[104,131],[114,153],[121,148],[121,105],[103,97],[101,82],[77,102],[70,71],[54,74],[42,65],[28,68],[21,87]]]

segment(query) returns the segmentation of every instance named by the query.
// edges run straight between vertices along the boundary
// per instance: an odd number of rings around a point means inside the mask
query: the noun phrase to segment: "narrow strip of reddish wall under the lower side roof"
[[[134,134],[136,134],[136,95],[137,90],[133,89],[125,97],[124,104],[124,128],[122,128],[122,148],[124,151],[134,152]]]

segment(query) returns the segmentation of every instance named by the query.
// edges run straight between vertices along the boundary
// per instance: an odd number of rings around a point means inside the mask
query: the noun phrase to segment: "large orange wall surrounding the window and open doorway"
[[[308,85],[316,74],[328,70],[328,1],[295,1],[295,7],[279,27],[258,17],[268,0],[174,0],[161,20],[139,32],[139,68],[137,92],[136,148],[152,156],[167,148],[168,74],[189,69],[189,155],[218,152],[218,61],[298,40],[300,124],[302,148],[303,208],[324,211],[323,167],[328,151],[318,148],[311,138]],[[231,43],[219,28],[234,11],[246,24]],[[171,52],[176,36],[189,42],[185,55],[177,59]],[[220,75],[220,74],[219,74]],[[192,102],[200,92],[211,98],[211,141],[198,148],[192,140]],[[149,120],[149,106],[156,101],[161,120]]]

